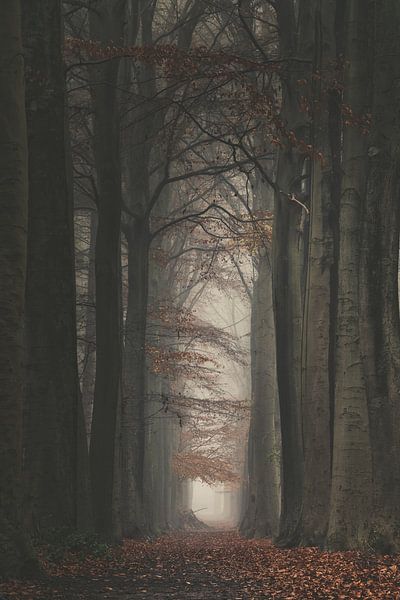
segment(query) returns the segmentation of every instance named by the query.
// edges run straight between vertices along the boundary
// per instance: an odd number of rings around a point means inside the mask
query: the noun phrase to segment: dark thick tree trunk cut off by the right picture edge
[[[389,553],[400,548],[400,10],[394,1],[376,1],[373,7],[374,97],[361,248],[361,339],[374,485],[369,543]]]

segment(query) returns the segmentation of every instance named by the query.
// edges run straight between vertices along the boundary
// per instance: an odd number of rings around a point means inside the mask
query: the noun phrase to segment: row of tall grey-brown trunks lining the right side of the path
[[[276,19],[285,132],[269,275],[256,284],[268,298],[256,327],[276,344],[267,404],[253,374],[242,528],[282,545],[397,551],[398,6],[279,2]],[[265,431],[281,436],[278,476]]]

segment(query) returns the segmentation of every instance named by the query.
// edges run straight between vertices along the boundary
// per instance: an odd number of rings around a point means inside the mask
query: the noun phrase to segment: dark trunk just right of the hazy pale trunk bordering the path
[[[307,214],[291,198],[292,194],[300,195],[305,157],[293,145],[289,132],[294,132],[297,140],[309,139],[308,116],[300,110],[295,90],[299,76],[310,76],[307,61],[312,57],[314,40],[310,9],[309,2],[300,4],[296,36],[293,4],[284,1],[278,6],[281,54],[289,61],[291,56],[300,56],[306,65],[296,65],[295,72],[290,68],[283,80],[281,118],[285,131],[278,157],[274,211],[272,276],[282,436],[282,505],[277,539],[280,545],[299,541],[303,493],[301,354]]]

